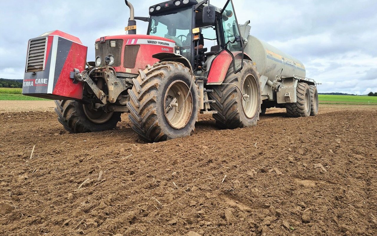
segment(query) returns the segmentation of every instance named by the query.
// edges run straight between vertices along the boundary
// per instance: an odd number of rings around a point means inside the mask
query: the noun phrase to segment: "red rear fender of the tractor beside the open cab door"
[[[236,57],[242,52],[232,52]],[[244,60],[250,60],[251,58],[244,53]],[[220,85],[227,75],[229,66],[233,63],[233,57],[227,52],[220,52],[210,65],[210,72],[208,73],[207,85]]]

